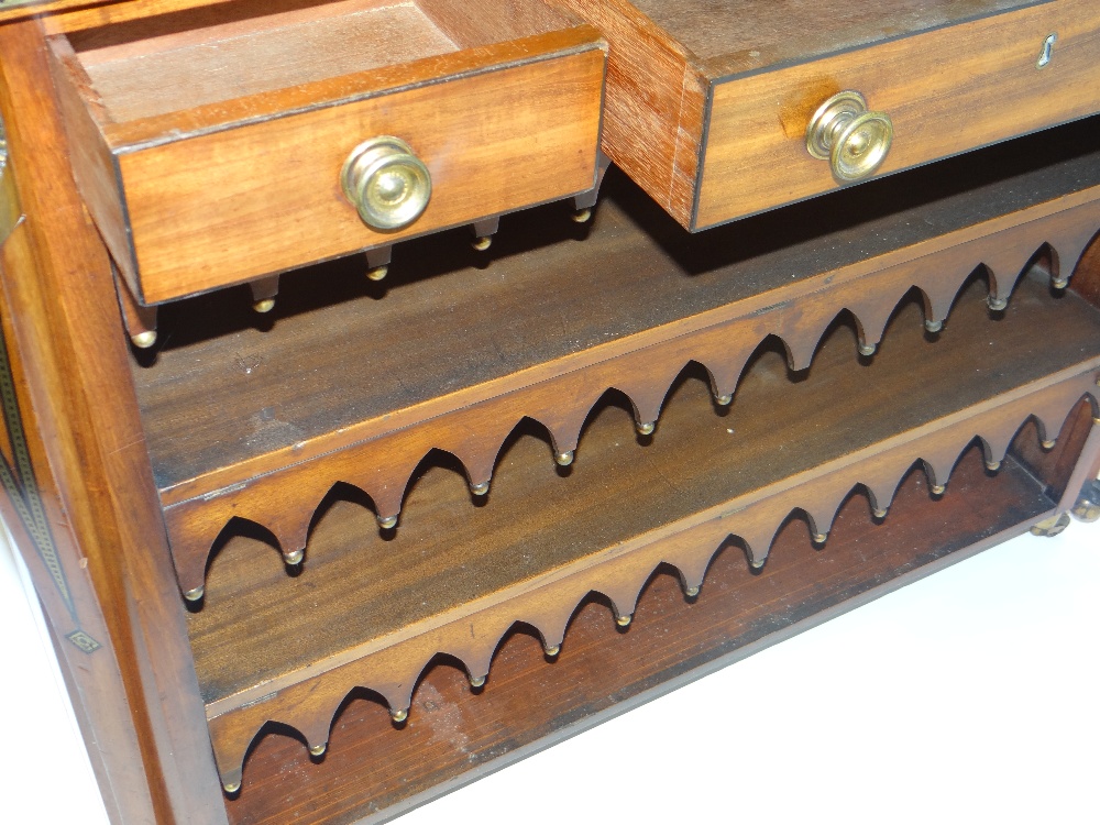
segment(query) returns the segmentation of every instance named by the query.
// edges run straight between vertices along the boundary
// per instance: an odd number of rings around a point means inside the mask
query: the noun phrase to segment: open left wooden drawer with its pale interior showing
[[[138,299],[591,190],[598,33],[539,0],[485,7],[284,0],[52,38],[77,182]],[[380,135],[430,175],[396,229],[367,226],[341,183]]]

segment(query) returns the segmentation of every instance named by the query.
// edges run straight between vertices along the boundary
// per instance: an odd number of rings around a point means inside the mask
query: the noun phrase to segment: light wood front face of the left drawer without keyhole
[[[139,295],[156,304],[591,189],[603,74],[593,47],[119,154]],[[381,134],[431,174],[424,215],[395,232],[370,229],[340,184]]]

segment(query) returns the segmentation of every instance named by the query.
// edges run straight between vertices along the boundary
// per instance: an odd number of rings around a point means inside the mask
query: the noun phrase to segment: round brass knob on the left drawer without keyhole
[[[344,195],[372,229],[403,229],[431,198],[431,175],[405,141],[383,135],[352,150],[340,173]]]

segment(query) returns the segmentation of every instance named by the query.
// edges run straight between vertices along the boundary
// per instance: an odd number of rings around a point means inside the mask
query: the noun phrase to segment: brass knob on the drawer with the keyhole
[[[822,103],[806,127],[806,150],[828,161],[833,177],[862,180],[882,165],[893,141],[893,123],[884,112],[867,110],[858,91],[840,91]]]

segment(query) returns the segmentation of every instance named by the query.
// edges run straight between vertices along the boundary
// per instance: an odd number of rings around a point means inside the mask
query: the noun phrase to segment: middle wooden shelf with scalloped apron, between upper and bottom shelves
[[[1033,440],[1053,439],[1096,394],[1100,312],[1074,294],[1053,297],[1044,271],[1032,275],[1001,320],[990,319],[986,284],[975,279],[938,341],[924,333],[920,302],[904,304],[872,360],[857,356],[843,324],[802,373],[766,343],[728,415],[715,415],[705,380],[688,371],[651,439],[637,438],[629,409],[609,397],[563,477],[538,430],[520,429],[481,507],[461,472],[426,462],[392,536],[378,534],[358,491],[337,491],[296,576],[262,534],[232,535],[188,617],[223,778],[232,784],[267,719],[322,745],[355,685],[404,710],[437,652],[483,676],[514,622],[552,647],[590,590],[629,616],[661,561],[696,586],[729,535],[762,564],[794,508],[825,534],[857,484],[886,510],[919,460],[945,485],[976,436],[993,464],[1032,415]]]

